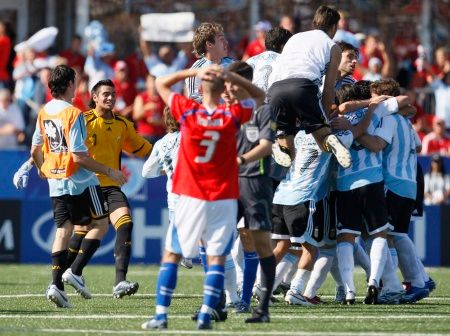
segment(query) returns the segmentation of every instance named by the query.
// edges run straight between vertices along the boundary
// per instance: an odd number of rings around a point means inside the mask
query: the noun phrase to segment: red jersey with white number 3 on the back
[[[175,194],[205,201],[239,198],[236,135],[254,107],[253,100],[243,100],[208,113],[202,104],[172,94],[170,108],[181,125]]]

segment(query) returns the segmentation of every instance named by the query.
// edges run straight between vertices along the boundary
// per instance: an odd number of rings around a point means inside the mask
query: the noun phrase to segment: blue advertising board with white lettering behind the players
[[[55,225],[48,184],[36,170],[28,187],[17,190],[12,176],[28,159],[28,151],[0,151],[0,262],[49,263]],[[424,171],[430,158],[420,157]],[[450,171],[450,159],[445,160]],[[145,179],[143,161],[124,158],[122,171],[133,215],[132,263],[159,263],[168,224],[166,178]],[[411,225],[410,235],[419,257],[427,266],[450,266],[450,206],[430,206],[425,216]],[[115,230],[110,226],[92,263],[114,263]]]

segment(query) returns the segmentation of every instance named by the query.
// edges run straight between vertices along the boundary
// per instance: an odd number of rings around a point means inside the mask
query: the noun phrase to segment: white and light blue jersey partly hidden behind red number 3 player
[[[180,147],[180,132],[167,133],[162,139],[156,141],[152,153],[142,167],[143,177],[158,177],[164,171],[167,175],[167,207],[175,209],[175,204],[179,198],[172,193],[172,176],[178,158]]]

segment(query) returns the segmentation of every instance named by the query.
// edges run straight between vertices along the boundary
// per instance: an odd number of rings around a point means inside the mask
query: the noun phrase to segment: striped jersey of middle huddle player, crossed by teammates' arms
[[[398,111],[398,103],[395,98],[381,102],[372,113],[372,119],[367,133],[373,135],[377,130],[377,135],[384,139],[383,132],[388,132],[386,125],[382,123],[382,118]],[[358,124],[365,116],[367,108],[346,113],[352,125]],[[354,141],[350,147],[352,166],[350,168],[338,167],[336,178],[336,188],[339,191],[348,191],[361,188],[365,185],[381,182],[383,180],[382,152],[374,153],[366,147]]]

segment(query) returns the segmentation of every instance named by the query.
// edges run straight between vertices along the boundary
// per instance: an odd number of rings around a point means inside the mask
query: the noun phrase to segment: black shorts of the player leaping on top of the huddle
[[[276,116],[278,135],[295,135],[299,128],[312,133],[326,126],[318,93],[317,85],[305,78],[285,79],[270,87],[267,97]]]

